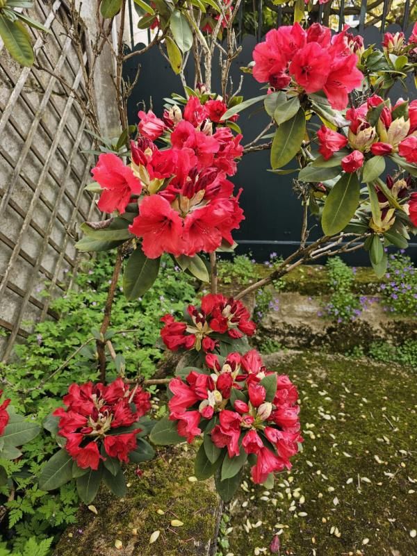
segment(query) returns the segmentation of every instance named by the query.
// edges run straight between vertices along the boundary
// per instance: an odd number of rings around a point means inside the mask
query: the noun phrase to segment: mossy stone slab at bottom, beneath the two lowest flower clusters
[[[194,455],[194,448],[188,448]],[[127,471],[131,486],[125,498],[101,491],[94,505],[97,515],[85,507],[77,525],[65,532],[56,556],[197,556],[204,555],[213,537],[218,516],[217,494],[210,482],[190,482],[193,458],[183,447],[161,450],[154,461],[141,464],[138,479],[134,468]],[[163,515],[157,510],[165,512]],[[172,527],[173,520],[183,522]],[[137,530],[137,534],[134,534]],[[149,545],[152,532],[161,532]],[[115,541],[123,549],[115,548]]]

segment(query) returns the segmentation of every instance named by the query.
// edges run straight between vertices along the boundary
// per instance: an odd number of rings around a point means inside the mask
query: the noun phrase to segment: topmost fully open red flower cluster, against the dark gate
[[[322,90],[332,108],[343,110],[348,93],[363,80],[356,47],[346,30],[332,36],[318,23],[306,31],[298,23],[280,26],[256,44],[253,75],[276,90],[291,87],[307,94]]]

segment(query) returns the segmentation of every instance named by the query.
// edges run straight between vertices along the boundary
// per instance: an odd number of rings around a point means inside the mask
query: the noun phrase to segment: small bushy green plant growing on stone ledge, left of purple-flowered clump
[[[329,259],[326,267],[332,296],[324,305],[325,316],[336,322],[354,320],[361,313],[361,302],[352,292],[354,283],[352,268],[343,263],[340,257]]]

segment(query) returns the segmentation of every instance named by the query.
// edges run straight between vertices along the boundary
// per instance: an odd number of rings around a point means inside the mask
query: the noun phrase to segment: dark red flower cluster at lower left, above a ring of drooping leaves
[[[117,378],[108,386],[88,382],[72,384],[64,396],[64,407],[54,411],[59,417],[58,434],[66,439],[65,450],[82,469],[97,470],[107,457],[128,462],[136,449],[135,426],[149,411],[149,393],[140,386],[132,390]]]

